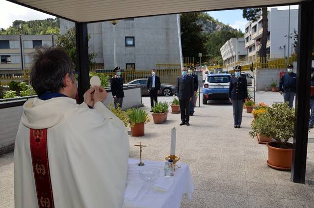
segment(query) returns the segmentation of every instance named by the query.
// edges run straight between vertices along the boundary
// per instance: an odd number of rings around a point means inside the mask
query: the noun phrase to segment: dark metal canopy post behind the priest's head
[[[83,95],[89,89],[88,70],[88,33],[87,23],[76,23],[76,45],[77,45],[77,71],[78,76],[78,99],[83,103]]]

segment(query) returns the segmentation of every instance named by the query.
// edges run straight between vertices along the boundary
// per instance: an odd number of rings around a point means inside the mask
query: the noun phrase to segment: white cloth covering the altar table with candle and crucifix
[[[188,200],[192,199],[194,185],[187,164],[178,162],[181,168],[176,168],[174,176],[170,177],[170,180],[173,180],[172,187],[167,192],[161,192],[154,189],[153,186],[145,184],[140,179],[138,171],[143,168],[157,168],[160,171],[158,180],[161,180],[164,177],[164,161],[145,160],[145,165],[142,167],[137,165],[138,162],[139,159],[129,159],[127,185],[135,183],[140,186],[143,184],[143,187],[133,200],[125,197],[125,208],[180,208],[183,194]],[[131,191],[131,189],[126,190]],[[129,193],[125,192],[125,196],[127,195]]]

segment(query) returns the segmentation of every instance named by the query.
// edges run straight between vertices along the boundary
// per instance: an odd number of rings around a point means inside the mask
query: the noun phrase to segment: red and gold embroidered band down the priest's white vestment
[[[29,143],[39,208],[54,208],[50,178],[47,129],[29,131]]]

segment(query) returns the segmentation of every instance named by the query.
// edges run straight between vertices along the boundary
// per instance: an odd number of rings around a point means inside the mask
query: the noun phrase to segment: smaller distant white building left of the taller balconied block
[[[230,38],[220,48],[224,65],[233,64],[247,56],[244,46],[244,38]]]

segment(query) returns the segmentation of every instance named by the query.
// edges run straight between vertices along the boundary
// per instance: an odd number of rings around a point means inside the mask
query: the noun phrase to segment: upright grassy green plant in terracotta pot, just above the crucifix
[[[145,133],[144,124],[150,121],[148,112],[140,108],[132,108],[128,110],[128,115],[132,136],[143,136]]]

